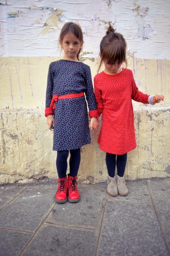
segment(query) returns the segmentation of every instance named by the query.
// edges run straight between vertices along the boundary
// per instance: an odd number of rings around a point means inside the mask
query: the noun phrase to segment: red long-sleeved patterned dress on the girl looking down
[[[149,95],[139,92],[132,71],[124,68],[116,75],[97,74],[94,88],[99,116],[102,113],[100,149],[118,155],[135,149],[132,99],[148,104]]]

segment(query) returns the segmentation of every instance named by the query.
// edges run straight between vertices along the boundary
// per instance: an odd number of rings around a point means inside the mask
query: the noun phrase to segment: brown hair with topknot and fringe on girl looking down
[[[101,60],[98,72],[104,61],[112,65],[124,62],[127,67],[126,49],[127,44],[124,37],[122,34],[115,32],[115,29],[111,26],[111,23],[109,23],[106,35],[102,38],[100,43]]]

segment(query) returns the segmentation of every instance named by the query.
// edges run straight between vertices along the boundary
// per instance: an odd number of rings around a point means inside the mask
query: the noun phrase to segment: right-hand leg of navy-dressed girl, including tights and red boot
[[[80,165],[80,148],[70,150],[70,173],[68,174],[68,201],[79,202],[80,194],[77,187],[77,174]]]

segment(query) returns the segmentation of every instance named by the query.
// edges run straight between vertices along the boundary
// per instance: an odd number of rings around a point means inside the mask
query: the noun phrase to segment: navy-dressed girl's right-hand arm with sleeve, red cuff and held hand
[[[88,109],[89,109],[88,114],[89,114],[89,117],[91,118],[89,128],[97,131],[99,126],[99,122],[97,119],[98,110],[96,106],[96,99],[95,99],[95,94],[94,94],[94,89],[93,89],[93,84],[91,79],[91,71],[89,66],[87,66],[87,69],[86,69],[85,82],[87,86],[85,95],[86,95],[86,100],[87,100]]]

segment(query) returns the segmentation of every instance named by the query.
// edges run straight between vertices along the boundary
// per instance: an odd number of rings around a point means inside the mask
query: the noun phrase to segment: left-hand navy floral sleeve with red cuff
[[[48,70],[48,78],[47,78],[47,90],[46,90],[46,109],[45,116],[47,117],[49,114],[54,114],[53,109],[50,108],[51,100],[52,100],[52,92],[53,92],[53,79],[54,74],[52,71],[52,63],[49,66]]]

